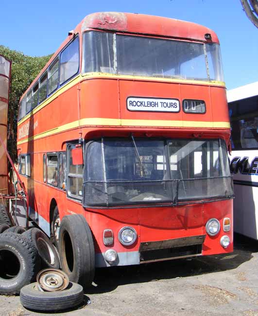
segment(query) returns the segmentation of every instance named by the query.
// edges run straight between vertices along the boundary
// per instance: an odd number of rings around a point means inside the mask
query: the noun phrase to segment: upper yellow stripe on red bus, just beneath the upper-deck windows
[[[34,110],[28,113],[22,120],[18,122],[18,126],[28,120],[31,116],[33,116],[36,112],[41,110],[43,107],[51,103],[54,99],[56,99],[59,95],[77,85],[79,82],[88,79],[96,79],[96,78],[109,78],[109,79],[130,79],[130,80],[147,80],[153,82],[171,82],[171,83],[181,83],[181,84],[195,84],[195,85],[208,85],[208,86],[218,86],[225,88],[225,83],[222,81],[201,81],[201,80],[188,80],[188,79],[172,79],[172,78],[158,78],[158,77],[145,77],[145,76],[131,76],[131,75],[118,75],[112,73],[84,73],[79,74],[74,77],[71,81],[69,81],[66,85],[62,86],[58,90],[56,90],[50,97],[48,97],[44,102],[34,108]]]

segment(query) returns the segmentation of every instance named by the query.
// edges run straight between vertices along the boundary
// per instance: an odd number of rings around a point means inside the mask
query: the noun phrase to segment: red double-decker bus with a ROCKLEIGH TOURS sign
[[[30,218],[88,284],[95,267],[231,252],[229,137],[213,31],[86,16],[20,101]]]

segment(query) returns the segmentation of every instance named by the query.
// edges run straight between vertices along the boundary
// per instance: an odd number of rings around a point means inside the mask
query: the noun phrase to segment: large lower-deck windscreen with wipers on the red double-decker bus
[[[233,195],[222,140],[108,139],[86,146],[84,206],[176,204]]]

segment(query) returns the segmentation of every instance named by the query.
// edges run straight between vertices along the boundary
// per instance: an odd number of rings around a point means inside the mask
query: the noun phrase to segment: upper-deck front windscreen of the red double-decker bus
[[[84,33],[83,72],[224,81],[220,46],[183,40]]]

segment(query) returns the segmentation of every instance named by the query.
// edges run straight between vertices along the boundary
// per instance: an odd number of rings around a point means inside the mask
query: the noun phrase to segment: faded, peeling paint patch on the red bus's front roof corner
[[[126,31],[127,19],[125,14],[120,12],[93,13],[86,16],[84,19],[82,24],[82,32],[89,28]]]

